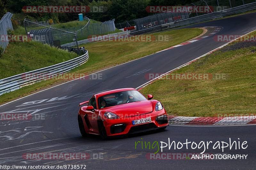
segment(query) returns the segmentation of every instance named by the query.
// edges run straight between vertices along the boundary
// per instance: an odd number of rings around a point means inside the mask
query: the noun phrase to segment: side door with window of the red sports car
[[[95,97],[92,97],[89,102],[88,102],[88,106],[93,106],[94,110],[90,111],[87,110],[86,111],[86,115],[87,115],[87,119],[89,121],[89,129],[91,131],[91,133],[98,133],[98,108],[97,108],[97,101]]]

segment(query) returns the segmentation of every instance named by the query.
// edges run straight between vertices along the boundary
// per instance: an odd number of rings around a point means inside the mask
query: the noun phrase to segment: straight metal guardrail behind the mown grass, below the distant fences
[[[80,41],[77,41],[78,45],[81,45],[81,44],[86,44],[86,43],[90,43],[90,42],[97,42],[101,39],[104,39],[104,38],[116,38],[118,36],[124,36],[124,35],[130,35],[130,31],[124,31],[124,32],[119,32],[119,33],[112,33],[112,34],[108,34],[108,35],[102,35],[102,36],[98,36],[98,37],[94,37],[94,38],[88,38],[88,39],[85,39],[85,40],[80,40]],[[68,44],[63,44],[61,45],[61,47],[73,47],[76,45],[76,42],[70,42]]]

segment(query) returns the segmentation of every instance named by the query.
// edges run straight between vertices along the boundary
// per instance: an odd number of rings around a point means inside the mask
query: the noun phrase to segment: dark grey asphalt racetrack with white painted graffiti
[[[189,27],[221,26],[216,34],[243,35],[256,29],[256,13],[215,20]],[[215,35],[216,35],[215,34]],[[256,126],[175,126],[162,132],[102,140],[98,136],[82,138],[77,124],[78,104],[89,100],[92,94],[124,87],[139,87],[148,80],[147,73],[165,73],[187,63],[226,42],[213,40],[213,35],[188,45],[165,50],[147,57],[100,71],[102,79],[78,79],[38,92],[0,107],[0,113],[30,113],[44,115],[45,120],[1,121],[1,165],[86,165],[86,169],[254,169],[256,164]],[[90,51],[89,51],[90,55]],[[233,141],[248,142],[246,149],[214,150],[206,153],[248,154],[247,159],[212,160],[155,160],[148,159],[149,150],[135,149],[136,141],[168,142]],[[239,139],[238,139],[239,138]],[[202,149],[164,148],[168,153],[199,153]],[[88,160],[26,160],[25,153],[76,153],[91,155]],[[160,153],[160,151],[159,151]],[[103,155],[103,159],[98,159]],[[93,155],[95,158],[93,158]]]

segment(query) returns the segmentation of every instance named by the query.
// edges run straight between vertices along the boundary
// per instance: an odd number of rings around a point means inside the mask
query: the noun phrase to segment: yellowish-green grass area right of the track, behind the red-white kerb
[[[216,114],[256,113],[256,47],[226,52],[216,51],[172,72],[210,73],[225,78],[207,80],[154,81],[143,94],[160,100],[169,115],[215,117]]]

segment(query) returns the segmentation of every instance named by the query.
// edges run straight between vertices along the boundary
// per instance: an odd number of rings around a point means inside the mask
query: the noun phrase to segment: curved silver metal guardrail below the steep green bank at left
[[[21,73],[12,77],[4,78],[0,80],[0,95],[14,90],[20,89],[24,86],[34,84],[49,77],[56,76],[58,74],[67,72],[74,69],[89,59],[88,51],[84,50],[84,54],[74,59],[68,60],[63,63],[55,64],[45,68]]]

